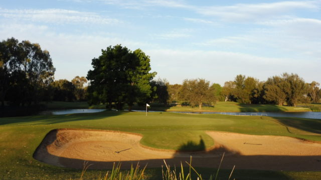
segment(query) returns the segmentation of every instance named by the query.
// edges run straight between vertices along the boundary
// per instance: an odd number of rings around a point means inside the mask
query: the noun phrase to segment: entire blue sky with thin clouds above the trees
[[[142,49],[170,83],[293,72],[321,82],[321,0],[2,0],[1,40],[49,50],[55,79],[86,76],[109,45]]]

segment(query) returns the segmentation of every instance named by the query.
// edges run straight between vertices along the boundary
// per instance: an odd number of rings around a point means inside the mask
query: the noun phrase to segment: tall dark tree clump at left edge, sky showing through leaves
[[[46,88],[53,81],[54,72],[49,52],[42,50],[38,43],[19,42],[14,37],[0,43],[2,104],[4,100],[24,105],[46,99]]]

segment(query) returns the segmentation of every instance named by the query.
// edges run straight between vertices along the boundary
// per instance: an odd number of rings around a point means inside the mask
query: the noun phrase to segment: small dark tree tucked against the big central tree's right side
[[[168,91],[168,84],[169,82],[166,79],[161,79],[158,78],[156,80],[151,80],[150,85],[151,87],[155,87],[155,92],[154,92],[154,100],[163,103],[165,105],[168,104],[169,100],[169,91]]]

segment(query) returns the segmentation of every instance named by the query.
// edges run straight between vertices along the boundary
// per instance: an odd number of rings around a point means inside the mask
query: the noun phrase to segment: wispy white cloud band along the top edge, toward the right
[[[74,0],[91,2],[91,0]],[[146,7],[168,7],[190,10],[202,15],[218,17],[228,21],[253,21],[279,17],[297,9],[319,10],[321,0],[280,1],[270,3],[237,3],[234,5],[200,6],[191,5],[183,0],[98,0],[105,4],[118,5],[123,8],[144,9]],[[195,21],[197,19],[186,19]],[[201,22],[201,20],[199,20]],[[204,20],[203,23],[208,23]]]

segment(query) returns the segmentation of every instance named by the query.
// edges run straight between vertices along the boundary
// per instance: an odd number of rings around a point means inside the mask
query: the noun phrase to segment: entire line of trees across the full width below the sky
[[[101,50],[92,59],[87,77],[54,80],[55,68],[48,50],[28,40],[14,37],[0,42],[0,102],[13,105],[38,104],[41,101],[87,100],[89,104],[106,104],[106,108],[129,110],[134,104],[215,105],[216,101],[278,104],[318,103],[319,83],[305,82],[294,73],[269,77],[266,81],[237,75],[223,86],[202,78],[185,79],[170,84],[153,79],[150,58],[141,49],[131,51],[120,44]],[[88,79],[88,86],[86,86]]]

